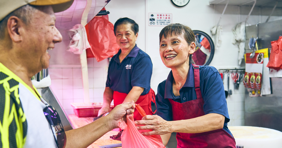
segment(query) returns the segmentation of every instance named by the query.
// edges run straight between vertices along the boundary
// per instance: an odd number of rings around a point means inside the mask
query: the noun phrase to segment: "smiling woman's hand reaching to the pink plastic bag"
[[[142,118],[142,120],[135,121],[135,124],[141,125],[136,126],[138,130],[153,130],[150,132],[142,132],[141,134],[144,136],[163,135],[173,132],[171,129],[171,123],[169,121],[164,120],[158,115],[146,115]]]

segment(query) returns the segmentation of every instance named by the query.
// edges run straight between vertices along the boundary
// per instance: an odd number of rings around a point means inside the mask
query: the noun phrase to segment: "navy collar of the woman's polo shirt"
[[[166,86],[164,89],[164,98],[173,99],[172,83],[173,83],[173,74],[172,74],[172,71],[170,71],[168,74],[168,78],[166,79]],[[195,87],[194,70],[193,70],[192,64],[189,65],[188,76],[187,76],[186,82],[184,83],[183,87]]]

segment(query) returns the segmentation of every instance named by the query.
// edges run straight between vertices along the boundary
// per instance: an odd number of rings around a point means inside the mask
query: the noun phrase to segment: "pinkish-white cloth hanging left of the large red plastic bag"
[[[90,48],[85,27],[81,24],[76,24],[69,30],[69,36],[71,38],[69,50],[74,54],[81,54],[83,50]]]

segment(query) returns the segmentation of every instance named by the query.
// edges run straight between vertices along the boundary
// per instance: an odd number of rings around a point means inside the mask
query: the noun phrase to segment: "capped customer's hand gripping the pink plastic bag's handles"
[[[126,120],[126,114],[132,114],[134,112],[134,101],[122,103],[114,107],[114,109],[107,115],[110,117],[113,129],[118,128],[118,122]],[[105,116],[106,117],[106,116]]]

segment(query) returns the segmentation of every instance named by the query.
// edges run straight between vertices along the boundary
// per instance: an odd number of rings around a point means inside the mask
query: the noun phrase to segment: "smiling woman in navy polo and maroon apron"
[[[157,115],[136,121],[144,135],[161,135],[164,145],[177,132],[177,148],[235,148],[224,87],[218,71],[192,60],[195,36],[191,28],[170,24],[160,32],[160,56],[171,68],[158,85]]]

